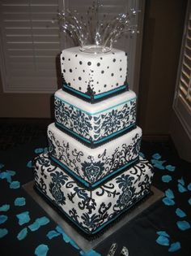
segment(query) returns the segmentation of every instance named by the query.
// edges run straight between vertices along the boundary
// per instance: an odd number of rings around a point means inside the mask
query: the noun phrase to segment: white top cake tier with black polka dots
[[[128,89],[127,54],[113,49],[87,54],[72,47],[62,50],[63,89],[87,102],[96,102]]]

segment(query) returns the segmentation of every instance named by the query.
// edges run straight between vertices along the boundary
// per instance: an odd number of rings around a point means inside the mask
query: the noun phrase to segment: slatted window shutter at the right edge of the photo
[[[185,18],[185,31],[173,107],[185,131],[191,138],[191,1],[189,1]]]

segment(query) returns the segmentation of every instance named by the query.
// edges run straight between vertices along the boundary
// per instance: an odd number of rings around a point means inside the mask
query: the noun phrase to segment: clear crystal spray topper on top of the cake
[[[100,15],[100,1],[93,2],[85,13],[78,11],[63,11],[59,13],[62,31],[80,46],[80,50],[91,54],[100,54],[112,50],[112,45],[124,33],[137,32],[137,25],[130,24],[130,16],[137,11],[131,9],[131,14],[121,13],[108,20],[108,15]]]

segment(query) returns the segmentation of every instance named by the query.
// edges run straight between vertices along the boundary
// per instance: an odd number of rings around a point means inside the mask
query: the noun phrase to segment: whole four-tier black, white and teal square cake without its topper
[[[36,158],[35,184],[88,235],[106,228],[150,193],[153,171],[139,157],[136,95],[125,83],[121,50],[61,54],[63,89],[55,93],[49,154]]]

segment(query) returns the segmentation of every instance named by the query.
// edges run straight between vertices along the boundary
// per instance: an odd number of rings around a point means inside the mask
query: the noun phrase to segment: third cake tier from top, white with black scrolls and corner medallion
[[[87,188],[95,188],[138,161],[142,129],[89,148],[53,124],[48,128],[49,156]]]

